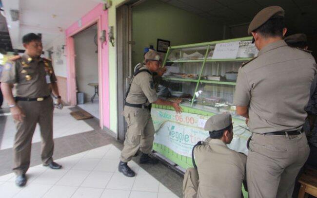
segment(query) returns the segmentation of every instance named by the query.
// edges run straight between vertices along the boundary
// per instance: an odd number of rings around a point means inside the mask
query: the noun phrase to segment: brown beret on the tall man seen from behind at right
[[[249,28],[248,35],[251,34],[252,31],[256,30],[258,27],[263,25],[270,18],[274,17],[284,17],[285,11],[283,8],[279,6],[270,6],[262,9],[258,12],[258,14],[252,19]]]

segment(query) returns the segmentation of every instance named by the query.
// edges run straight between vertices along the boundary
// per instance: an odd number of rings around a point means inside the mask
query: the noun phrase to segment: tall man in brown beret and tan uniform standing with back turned
[[[241,66],[234,104],[250,118],[247,182],[250,198],[291,198],[309,146],[301,132],[316,73],[313,56],[287,46],[284,10],[261,10],[249,25],[258,57]]]

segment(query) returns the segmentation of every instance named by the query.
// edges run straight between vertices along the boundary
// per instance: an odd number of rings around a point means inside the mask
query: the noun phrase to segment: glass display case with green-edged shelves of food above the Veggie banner
[[[238,42],[236,58],[213,57],[217,44],[232,42]],[[229,111],[235,116],[233,94],[239,66],[257,53],[251,37],[170,47],[163,62],[168,65],[163,79],[169,86],[159,86],[158,95],[181,98],[184,106]]]

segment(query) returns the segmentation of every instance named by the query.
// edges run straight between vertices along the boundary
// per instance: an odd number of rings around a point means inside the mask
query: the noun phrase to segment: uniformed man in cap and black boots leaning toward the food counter
[[[140,163],[157,163],[148,154],[152,151],[154,140],[154,126],[151,118],[151,103],[172,106],[180,113],[180,100],[170,102],[158,98],[153,82],[153,72],[157,72],[161,63],[158,53],[154,50],[144,56],[145,64],[139,67],[132,78],[126,94],[124,118],[128,124],[124,147],[120,156],[119,172],[127,177],[134,177],[135,173],[127,165],[132,157],[140,150]]]

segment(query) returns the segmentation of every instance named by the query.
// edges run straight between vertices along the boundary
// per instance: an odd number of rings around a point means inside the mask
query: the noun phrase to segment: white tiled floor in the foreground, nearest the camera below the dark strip
[[[112,144],[56,160],[61,170],[42,165],[27,172],[28,183],[19,188],[11,173],[0,177],[2,198],[177,198],[162,183],[129,162],[134,178],[118,171],[120,151]]]

